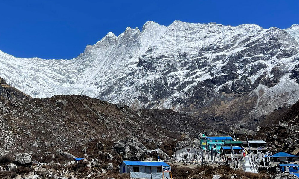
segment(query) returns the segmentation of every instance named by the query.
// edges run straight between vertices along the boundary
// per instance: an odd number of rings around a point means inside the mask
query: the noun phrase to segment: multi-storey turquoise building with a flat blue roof
[[[202,135],[200,137],[200,144],[202,146],[202,149],[206,150],[212,150],[212,147],[217,149],[217,151],[220,151],[221,146],[224,146],[224,143],[226,141],[233,141],[234,139],[231,136],[205,136]]]

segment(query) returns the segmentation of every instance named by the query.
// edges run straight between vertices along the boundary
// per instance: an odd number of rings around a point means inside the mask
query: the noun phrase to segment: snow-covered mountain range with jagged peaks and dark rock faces
[[[298,41],[298,25],[148,21],[142,31],[109,32],[71,60],[0,51],[0,76],[34,98],[87,95],[241,125],[298,100]]]

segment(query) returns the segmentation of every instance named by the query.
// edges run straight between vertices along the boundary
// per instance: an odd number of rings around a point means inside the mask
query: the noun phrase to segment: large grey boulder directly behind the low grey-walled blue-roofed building
[[[123,155],[123,160],[143,161],[147,148],[136,138],[126,137],[113,144],[114,150]]]

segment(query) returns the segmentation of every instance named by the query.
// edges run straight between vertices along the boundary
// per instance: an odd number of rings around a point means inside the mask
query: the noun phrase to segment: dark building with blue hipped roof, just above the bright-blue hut
[[[275,165],[282,164],[282,163],[288,164],[288,163],[299,162],[299,156],[292,155],[282,151],[273,154],[273,157],[271,155],[269,157],[271,162],[274,162]]]

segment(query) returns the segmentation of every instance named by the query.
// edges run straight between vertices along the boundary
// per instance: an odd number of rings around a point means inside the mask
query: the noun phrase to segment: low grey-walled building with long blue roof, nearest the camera
[[[131,178],[162,178],[162,167],[169,166],[162,161],[122,161],[120,173],[129,173]],[[164,177],[170,178],[169,173],[164,172]]]

